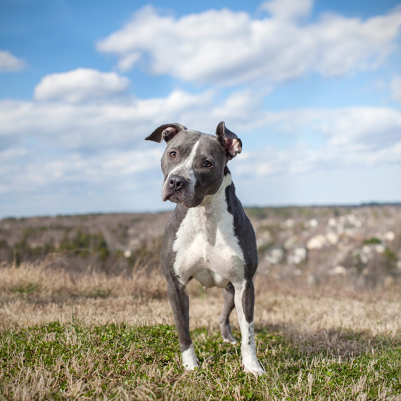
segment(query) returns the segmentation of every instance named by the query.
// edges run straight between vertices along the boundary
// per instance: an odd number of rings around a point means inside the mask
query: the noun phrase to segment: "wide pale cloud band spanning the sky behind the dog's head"
[[[152,165],[155,170],[163,146],[148,148],[144,141],[155,127],[181,122],[213,133],[220,120],[243,139],[243,153],[234,163],[238,177],[296,177],[316,170],[400,163],[400,111],[354,107],[269,112],[262,95],[251,91],[234,93],[217,105],[216,98],[210,91],[174,91],[166,98],[101,105],[1,101],[0,137],[10,139],[8,150],[0,154],[4,176],[25,187],[31,178],[42,186],[61,179],[95,182],[96,177],[152,170]],[[255,144],[250,132],[265,134],[259,134]],[[276,139],[282,137],[293,145],[278,148]]]

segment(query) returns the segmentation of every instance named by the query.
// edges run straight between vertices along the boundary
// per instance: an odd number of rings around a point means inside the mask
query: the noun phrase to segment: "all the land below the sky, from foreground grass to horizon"
[[[260,253],[255,337],[267,371],[260,378],[243,373],[240,345],[222,343],[221,290],[192,281],[201,366],[182,370],[157,262],[165,214],[125,216],[127,235],[115,230],[123,246],[108,236],[110,216],[108,233],[95,224],[104,216],[59,217],[57,229],[47,218],[1,221],[0,236],[11,239],[0,268],[0,399],[401,400],[401,208],[248,213]],[[74,219],[69,243],[88,231],[91,248],[60,246]],[[51,228],[41,229],[44,221]],[[85,224],[100,230],[103,248]],[[128,232],[135,224],[140,229]],[[42,254],[45,243],[51,249]],[[234,312],[231,322],[239,338]]]

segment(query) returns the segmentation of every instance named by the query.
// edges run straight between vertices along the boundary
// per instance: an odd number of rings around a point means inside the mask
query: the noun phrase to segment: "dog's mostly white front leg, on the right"
[[[255,288],[253,281],[243,281],[235,287],[235,306],[241,329],[241,354],[243,370],[259,376],[265,373],[256,356],[253,307],[255,305]]]

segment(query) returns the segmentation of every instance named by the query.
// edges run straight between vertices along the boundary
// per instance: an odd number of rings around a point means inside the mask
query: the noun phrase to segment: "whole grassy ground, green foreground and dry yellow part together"
[[[0,400],[401,400],[397,292],[255,288],[260,378],[222,343],[217,290],[189,286],[200,369],[184,372],[160,274],[3,265]]]

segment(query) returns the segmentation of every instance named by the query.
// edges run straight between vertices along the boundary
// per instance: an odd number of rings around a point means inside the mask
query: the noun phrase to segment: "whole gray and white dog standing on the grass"
[[[189,333],[189,298],[185,286],[192,278],[205,287],[224,290],[219,325],[224,341],[235,343],[229,314],[236,307],[241,329],[243,368],[255,376],[265,373],[256,357],[253,276],[257,268],[255,232],[236,197],[227,162],[241,152],[241,139],[217,125],[216,135],[161,125],[146,140],[167,148],[161,165],[163,200],[177,203],[167,222],[161,265],[177,324],[182,362],[186,370],[198,367]]]

